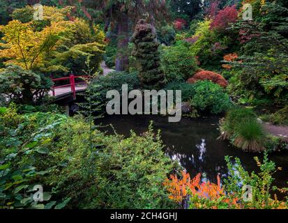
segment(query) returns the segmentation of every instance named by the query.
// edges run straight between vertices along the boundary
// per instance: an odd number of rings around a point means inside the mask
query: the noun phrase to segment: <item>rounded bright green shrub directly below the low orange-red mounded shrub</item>
[[[191,104],[200,112],[211,112],[220,114],[231,107],[229,95],[221,86],[209,81],[200,81],[194,84],[195,95]]]

